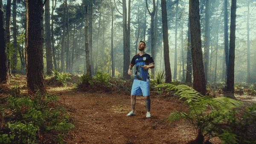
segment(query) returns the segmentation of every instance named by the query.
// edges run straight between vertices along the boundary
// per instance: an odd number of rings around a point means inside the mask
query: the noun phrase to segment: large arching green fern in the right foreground
[[[200,140],[200,137],[209,138],[210,135],[219,134],[223,143],[238,143],[239,139],[230,127],[234,125],[234,109],[242,106],[243,103],[241,101],[224,97],[211,98],[203,96],[195,89],[186,85],[160,84],[156,88],[180,96],[180,99],[189,106],[189,112],[170,113],[170,122],[186,119],[198,132],[197,140]],[[244,118],[246,117],[244,116]],[[222,127],[223,124],[227,126]],[[203,141],[197,142],[203,143]]]

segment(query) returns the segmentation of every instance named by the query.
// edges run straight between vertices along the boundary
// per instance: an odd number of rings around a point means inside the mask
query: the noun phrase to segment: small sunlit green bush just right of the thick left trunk
[[[58,70],[52,70],[52,75],[54,76],[56,81],[61,82],[63,86],[67,86],[67,81],[71,80],[70,73],[58,72]]]

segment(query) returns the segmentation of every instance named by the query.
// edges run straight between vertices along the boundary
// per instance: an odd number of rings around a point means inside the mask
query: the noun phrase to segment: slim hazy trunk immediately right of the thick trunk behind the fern
[[[205,74],[205,84],[208,81],[208,69],[209,69],[209,47],[210,47],[210,28],[209,28],[209,19],[210,19],[210,5],[209,0],[206,0],[205,5],[205,49],[204,49],[204,74]]]

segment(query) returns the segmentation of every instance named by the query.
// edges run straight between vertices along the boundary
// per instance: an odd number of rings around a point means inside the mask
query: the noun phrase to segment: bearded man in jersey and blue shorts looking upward
[[[150,89],[149,89],[149,74],[148,69],[154,68],[153,58],[145,53],[146,43],[140,41],[138,49],[140,52],[135,55],[130,63],[128,74],[131,75],[131,70],[134,65],[136,65],[136,73],[134,76],[134,82],[131,88],[131,112],[127,116],[135,115],[135,103],[136,95],[142,95],[145,97],[147,114],[146,118],[150,118]]]

